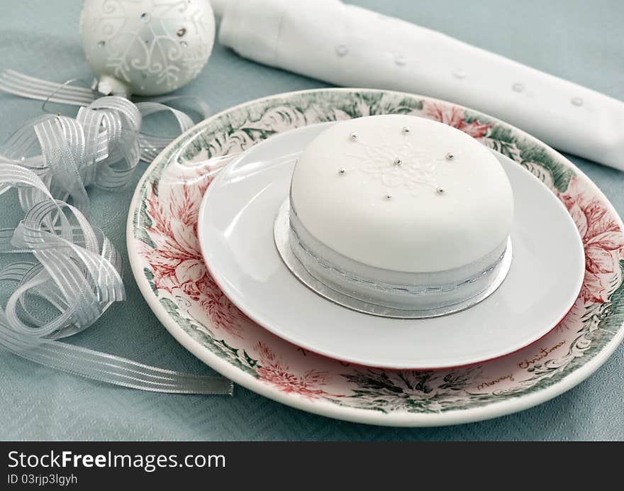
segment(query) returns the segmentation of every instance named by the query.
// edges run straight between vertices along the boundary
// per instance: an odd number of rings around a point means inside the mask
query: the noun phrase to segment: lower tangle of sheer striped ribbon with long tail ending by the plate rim
[[[52,198],[33,172],[0,163],[0,192],[35,189],[45,199],[28,210],[13,231],[0,230],[0,253],[30,252],[38,263],[13,263],[0,281],[17,288],[0,308],[0,344],[23,358],[116,385],[156,392],[229,394],[222,377],[204,377],[150,367],[114,355],[73,346],[60,338],[91,326],[113,303],[124,299],[121,258],[104,233],[74,206]],[[28,297],[45,299],[59,314],[39,319]]]

